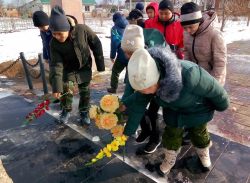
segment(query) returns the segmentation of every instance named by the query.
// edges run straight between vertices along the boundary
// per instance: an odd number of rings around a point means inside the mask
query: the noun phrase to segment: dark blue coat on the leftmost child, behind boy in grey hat
[[[47,32],[40,31],[40,35],[43,43],[43,59],[48,60],[50,63],[50,47],[49,43],[52,39],[52,32],[48,30]]]

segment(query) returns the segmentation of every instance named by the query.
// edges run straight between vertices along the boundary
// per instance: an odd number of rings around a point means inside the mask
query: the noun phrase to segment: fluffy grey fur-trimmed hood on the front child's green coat
[[[160,88],[156,95],[165,102],[178,99],[182,90],[181,62],[169,47],[152,47],[149,54],[155,59],[160,73]]]

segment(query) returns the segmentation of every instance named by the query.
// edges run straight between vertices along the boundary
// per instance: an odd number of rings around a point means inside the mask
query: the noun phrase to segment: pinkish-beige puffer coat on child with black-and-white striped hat
[[[216,13],[203,15],[203,23],[195,35],[184,34],[184,55],[214,76],[224,85],[227,48],[222,33],[213,26]]]

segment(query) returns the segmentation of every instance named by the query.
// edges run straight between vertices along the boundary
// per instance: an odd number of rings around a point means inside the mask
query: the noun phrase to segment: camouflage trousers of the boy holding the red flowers
[[[72,102],[73,102],[73,91],[75,83],[69,81],[63,85],[63,96],[61,97],[61,108],[66,111],[72,111]],[[78,84],[78,90],[80,95],[78,109],[79,112],[89,110],[89,101],[90,101],[90,91],[89,91],[89,82]]]

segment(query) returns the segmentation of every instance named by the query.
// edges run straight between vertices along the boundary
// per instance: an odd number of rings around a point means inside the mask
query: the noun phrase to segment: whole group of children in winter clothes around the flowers
[[[165,158],[159,166],[161,175],[174,166],[184,131],[204,167],[210,167],[211,140],[207,123],[214,111],[224,111],[229,98],[223,88],[226,76],[226,46],[220,31],[214,28],[215,12],[203,13],[193,2],[185,3],[180,14],[169,0],[146,7],[136,6],[128,17],[113,15],[110,59],[113,63],[109,93],[116,93],[119,75],[127,69],[125,91],[120,110],[128,113],[124,134],[131,136],[141,125],[138,143],[149,141],[146,153],[153,153],[162,143]],[[82,124],[89,124],[89,83],[93,51],[98,71],[104,71],[102,45],[86,25],[77,24],[56,6],[48,18],[38,11],[34,25],[41,30],[44,58],[50,66],[53,96],[61,99],[60,122],[67,122],[72,110],[72,84],[78,84],[79,112]],[[51,38],[52,36],[52,38]],[[44,38],[46,37],[46,39]],[[51,40],[50,40],[51,39]],[[184,59],[184,60],[183,60]],[[147,106],[149,105],[148,109]],[[164,133],[157,120],[163,108]]]

